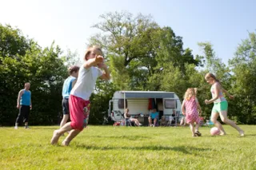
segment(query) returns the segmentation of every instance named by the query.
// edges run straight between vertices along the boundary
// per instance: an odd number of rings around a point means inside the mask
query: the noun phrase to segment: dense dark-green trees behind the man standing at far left
[[[61,49],[54,44],[42,49],[21,31],[10,26],[0,28],[0,41],[5,43],[0,49],[0,125],[14,125],[18,92],[25,82],[31,83],[30,124],[57,124],[62,112],[62,82],[67,77]]]

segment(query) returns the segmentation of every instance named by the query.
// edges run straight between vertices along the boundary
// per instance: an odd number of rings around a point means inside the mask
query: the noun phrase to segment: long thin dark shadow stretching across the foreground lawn
[[[194,154],[194,152],[209,152],[210,148],[196,148],[196,147],[188,147],[188,146],[122,146],[122,147],[98,147],[98,146],[90,146],[86,144],[76,144],[78,148],[85,148],[85,149],[93,149],[93,150],[146,150],[146,151],[175,151],[175,152],[182,152],[184,154]]]

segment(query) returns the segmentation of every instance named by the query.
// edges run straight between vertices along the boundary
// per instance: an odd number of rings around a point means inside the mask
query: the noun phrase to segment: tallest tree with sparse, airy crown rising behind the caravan
[[[136,75],[143,73],[148,77],[146,68],[142,67],[145,66],[144,59],[150,55],[150,34],[158,29],[158,25],[150,16],[138,14],[134,17],[128,12],[106,13],[100,18],[102,22],[94,28],[102,34],[92,37],[90,43],[102,45],[106,50],[114,84],[118,89],[142,89],[140,82],[145,80]]]

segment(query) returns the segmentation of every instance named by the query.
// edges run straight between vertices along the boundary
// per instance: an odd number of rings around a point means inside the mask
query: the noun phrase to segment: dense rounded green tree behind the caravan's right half
[[[149,89],[160,90],[165,87],[164,90],[174,91],[182,97],[184,90],[191,87],[185,83],[186,65],[202,65],[202,57],[194,58],[191,49],[183,49],[182,37],[176,36],[170,27],[158,30],[154,40],[157,65],[154,66],[154,74],[150,77]]]

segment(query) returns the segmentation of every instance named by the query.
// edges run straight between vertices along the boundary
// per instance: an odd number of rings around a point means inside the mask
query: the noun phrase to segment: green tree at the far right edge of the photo
[[[238,121],[246,124],[256,122],[256,34],[249,33],[238,45],[235,57],[229,64],[233,74],[235,110]]]

